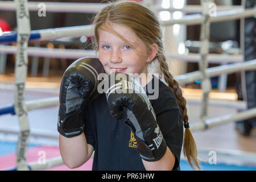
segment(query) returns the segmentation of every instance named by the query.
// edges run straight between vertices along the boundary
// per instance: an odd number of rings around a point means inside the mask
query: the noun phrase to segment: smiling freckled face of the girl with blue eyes
[[[147,63],[155,56],[146,56],[148,54],[146,44],[128,27],[114,23],[112,23],[112,26],[119,35],[128,40],[131,47],[123,42],[117,35],[100,29],[98,57],[105,72],[108,75],[112,72],[122,72],[126,74],[147,73]],[[141,53],[138,54],[134,49],[137,49],[137,51]]]

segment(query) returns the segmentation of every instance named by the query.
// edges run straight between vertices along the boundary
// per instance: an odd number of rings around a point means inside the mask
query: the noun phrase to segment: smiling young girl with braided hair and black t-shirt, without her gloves
[[[156,15],[134,1],[109,3],[94,18],[94,49],[105,73],[148,73],[158,66],[162,81],[148,76],[142,86],[156,85],[159,96],[150,100],[167,144],[162,158],[148,162],[137,152],[134,133],[125,125],[127,115],[117,120],[109,113],[105,93],[89,102],[84,110],[85,130],[76,137],[60,135],[60,152],[69,168],[80,167],[94,151],[93,170],[179,170],[183,144],[189,164],[199,169],[196,144],[188,126],[186,101],[179,84],[168,71],[162,32]],[[159,81],[159,82],[158,82]],[[165,83],[164,83],[165,82]],[[168,86],[167,86],[168,85]]]

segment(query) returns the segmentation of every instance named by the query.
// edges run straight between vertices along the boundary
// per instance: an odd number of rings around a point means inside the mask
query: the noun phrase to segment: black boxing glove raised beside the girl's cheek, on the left
[[[100,73],[104,73],[104,67],[94,57],[76,60],[65,71],[60,85],[57,122],[57,130],[64,137],[75,137],[84,131],[82,108],[97,93]]]

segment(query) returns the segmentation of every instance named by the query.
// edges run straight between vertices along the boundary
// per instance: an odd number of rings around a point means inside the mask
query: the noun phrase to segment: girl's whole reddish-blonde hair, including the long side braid
[[[96,14],[93,20],[93,48],[95,51],[98,51],[100,29],[113,32],[113,34],[119,36],[119,38],[121,38],[129,45],[129,42],[127,40],[123,39],[117,32],[114,31],[110,23],[117,23],[129,27],[146,44],[148,48],[153,43],[156,43],[158,45],[159,51],[154,59],[158,59],[160,71],[163,73],[164,80],[166,81],[171,91],[175,94],[181,114],[183,115],[183,122],[188,123],[186,108],[187,102],[183,97],[183,93],[178,82],[174,80],[174,77],[169,72],[166,57],[164,56],[162,31],[156,15],[146,6],[142,5],[139,2],[109,2],[107,6],[102,8],[101,11]],[[196,143],[188,127],[185,128],[183,152],[184,155],[187,157],[191,167],[193,167],[194,169],[200,169],[199,162],[197,161]]]

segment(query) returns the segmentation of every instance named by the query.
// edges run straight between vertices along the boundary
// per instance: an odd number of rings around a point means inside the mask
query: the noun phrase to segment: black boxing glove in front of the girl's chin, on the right
[[[139,81],[125,73],[113,72],[107,82],[106,98],[110,114],[122,119],[127,107],[126,125],[137,140],[137,150],[142,159],[155,161],[167,150],[166,141],[156,122],[155,112]]]

